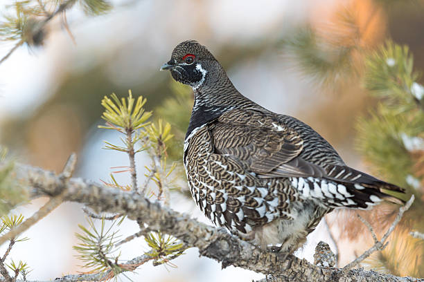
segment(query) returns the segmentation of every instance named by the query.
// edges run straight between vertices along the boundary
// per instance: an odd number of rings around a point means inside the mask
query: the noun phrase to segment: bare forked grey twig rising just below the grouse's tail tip
[[[374,232],[371,225],[366,220],[364,220],[364,218],[360,217],[361,221],[366,225],[366,227],[369,228],[371,235],[373,236],[375,244],[371,248],[366,250],[364,254],[358,256],[354,261],[352,261],[351,263],[348,263],[345,267],[343,267],[342,272],[347,272],[348,270],[350,270],[352,267],[354,267],[361,261],[364,261],[364,259],[369,257],[373,252],[384,250],[387,244],[389,243],[389,242],[386,242],[387,238],[389,237],[391,232],[393,232],[396,225],[398,225],[400,218],[402,218],[403,216],[403,213],[406,212],[409,209],[409,207],[411,207],[412,203],[414,203],[414,195],[411,196],[411,198],[407,201],[407,203],[403,207],[399,208],[398,215],[396,216],[394,222],[391,223],[389,229],[387,229],[387,232],[382,236],[380,241],[378,241],[376,233]]]

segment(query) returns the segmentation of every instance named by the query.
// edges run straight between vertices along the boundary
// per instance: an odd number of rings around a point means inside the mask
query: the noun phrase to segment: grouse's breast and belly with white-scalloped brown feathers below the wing
[[[215,153],[208,126],[184,144],[184,167],[195,203],[215,225],[248,234],[275,218],[291,218],[299,200],[289,178],[258,178],[237,160]]]

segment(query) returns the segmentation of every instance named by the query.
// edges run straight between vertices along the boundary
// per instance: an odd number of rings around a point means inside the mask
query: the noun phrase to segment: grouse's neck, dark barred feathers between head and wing
[[[225,73],[219,79],[206,77],[202,86],[194,88],[194,105],[186,138],[204,124],[215,120],[232,109],[247,108],[257,104],[238,92]]]

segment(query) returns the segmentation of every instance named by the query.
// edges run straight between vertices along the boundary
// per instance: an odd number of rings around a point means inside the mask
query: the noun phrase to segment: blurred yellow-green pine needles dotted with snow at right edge
[[[417,176],[414,153],[424,151],[424,111],[418,92],[423,86],[413,66],[407,46],[391,41],[369,55],[364,86],[382,100],[369,117],[357,122],[357,148],[388,180],[404,187],[410,187],[407,179]]]

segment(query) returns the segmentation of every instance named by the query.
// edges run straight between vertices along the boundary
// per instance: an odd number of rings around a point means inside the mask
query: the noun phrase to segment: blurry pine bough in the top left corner
[[[60,17],[61,26],[75,43],[67,23],[67,10],[77,3],[91,16],[103,15],[112,9],[112,4],[107,0],[24,0],[6,6],[6,13],[0,22],[0,40],[12,41],[15,46],[0,59],[0,64],[21,45],[42,45],[51,28],[47,25],[56,17]]]

